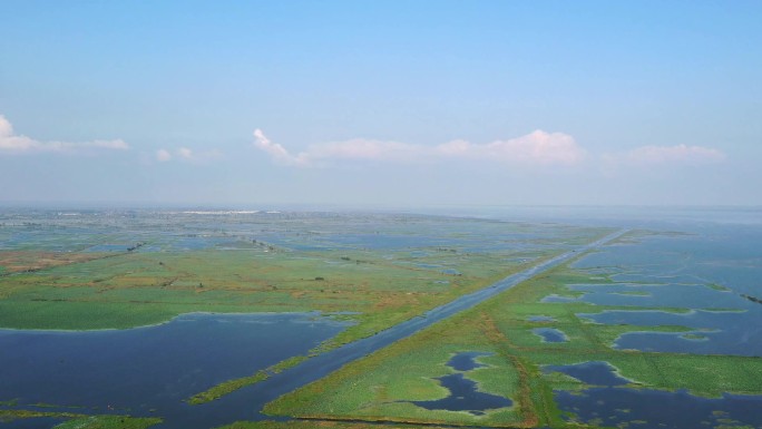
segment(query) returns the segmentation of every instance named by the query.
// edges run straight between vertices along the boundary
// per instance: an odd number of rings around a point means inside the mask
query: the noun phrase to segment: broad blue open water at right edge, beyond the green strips
[[[645,237],[628,245],[613,245],[587,255],[574,265],[615,272],[612,285],[572,285],[577,299],[599,305],[653,308],[655,311],[616,311],[580,314],[597,323],[680,325],[682,333],[631,332],[616,340],[617,349],[700,354],[762,357],[762,305],[744,295],[762,295],[762,226],[682,225],[690,234]],[[632,294],[632,293],[642,293]],[[658,311],[684,309],[684,313]],[[714,312],[707,310],[731,310]]]

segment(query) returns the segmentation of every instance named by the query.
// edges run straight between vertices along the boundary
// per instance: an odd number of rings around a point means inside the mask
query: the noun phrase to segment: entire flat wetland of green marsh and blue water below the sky
[[[760,426],[760,225],[508,217],[6,209],[0,427]]]

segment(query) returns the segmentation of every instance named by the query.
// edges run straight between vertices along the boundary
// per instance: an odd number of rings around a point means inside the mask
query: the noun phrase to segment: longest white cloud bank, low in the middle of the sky
[[[305,152],[292,155],[280,144],[272,143],[261,129],[254,131],[254,145],[283,165],[309,166],[331,160],[355,159],[392,163],[428,163],[444,159],[478,159],[516,165],[574,165],[583,160],[583,150],[569,135],[536,130],[526,136],[472,144],[453,140],[437,146],[355,138],[311,145]]]

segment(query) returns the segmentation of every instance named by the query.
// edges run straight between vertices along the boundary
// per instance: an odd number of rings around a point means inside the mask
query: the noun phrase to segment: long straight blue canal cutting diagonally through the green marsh
[[[214,428],[231,423],[236,420],[262,420],[273,419],[262,415],[263,407],[276,398],[289,393],[302,386],[316,381],[329,373],[340,369],[346,363],[361,359],[377,350],[394,343],[403,338],[428,328],[437,322],[450,318],[461,311],[505,292],[518,283],[529,280],[551,267],[567,262],[583,253],[589,252],[625,234],[627,230],[612,233],[598,241],[583,245],[574,251],[566,252],[553,259],[546,260],[522,272],[507,276],[506,279],[481,289],[477,292],[463,295],[444,305],[432,309],[420,316],[407,320],[375,335],[368,337],[355,342],[344,344],[329,352],[309,359],[296,367],[281,373],[273,374],[267,380],[243,388],[217,401],[201,406],[185,406],[183,412],[174,416],[165,416],[165,422],[160,428]],[[223,409],[236,409],[235,416],[222,412]]]

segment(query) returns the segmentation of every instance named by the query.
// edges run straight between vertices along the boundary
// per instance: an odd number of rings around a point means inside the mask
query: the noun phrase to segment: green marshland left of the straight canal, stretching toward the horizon
[[[166,231],[176,227],[177,221],[166,225],[153,217],[136,222],[124,232],[109,230],[80,237],[72,236],[68,231],[71,226],[21,226],[19,233],[35,233],[39,241],[0,251],[0,266],[10,273],[0,276],[0,326],[124,329],[199,311],[316,310],[342,313],[342,319],[354,322],[310,352],[316,354],[485,287],[563,252],[565,246],[588,243],[610,232],[442,217],[307,215],[293,222],[289,216],[256,218],[245,228],[238,221],[217,218],[219,230],[208,230],[205,223],[194,226],[198,220],[188,218],[190,225],[166,238]],[[362,235],[369,227],[417,245],[322,245],[322,240],[331,237],[330,231]],[[276,236],[282,243],[242,236],[242,228],[280,231]],[[12,234],[13,230],[2,233]],[[377,234],[378,240],[387,240],[384,234]],[[514,234],[522,238],[509,238]],[[436,242],[427,243],[430,236]],[[175,244],[186,238],[198,242],[198,247],[177,250]],[[215,241],[224,244],[205,244]],[[439,244],[442,241],[447,246]],[[303,250],[303,243],[318,245]],[[91,252],[104,248],[114,251]],[[228,380],[187,401],[196,404],[218,399],[306,358],[293,357],[252,376]]]

